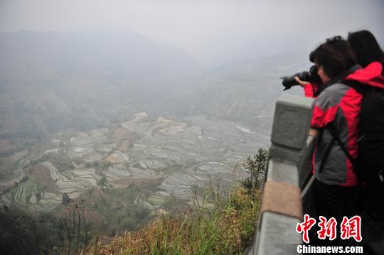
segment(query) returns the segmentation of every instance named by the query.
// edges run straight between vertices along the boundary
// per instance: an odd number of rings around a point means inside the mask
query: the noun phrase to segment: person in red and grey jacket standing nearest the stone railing
[[[358,180],[344,149],[356,158],[363,98],[343,81],[361,67],[348,41],[341,36],[327,39],[309,58],[318,67],[322,82],[314,93],[310,131],[318,137],[314,153],[316,213],[341,222],[343,216],[351,217],[355,213]]]

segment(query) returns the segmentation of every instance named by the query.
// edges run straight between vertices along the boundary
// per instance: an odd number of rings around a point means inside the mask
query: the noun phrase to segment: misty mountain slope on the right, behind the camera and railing
[[[215,116],[241,121],[269,135],[274,104],[283,93],[279,77],[309,67],[304,52],[238,60],[209,70],[188,91],[151,105],[147,112],[179,117]],[[297,87],[289,93],[302,94],[302,91]]]

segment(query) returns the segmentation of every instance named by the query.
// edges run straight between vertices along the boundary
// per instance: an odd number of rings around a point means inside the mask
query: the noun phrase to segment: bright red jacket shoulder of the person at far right
[[[353,80],[364,85],[384,89],[384,77],[382,72],[383,64],[380,62],[373,62],[367,65],[365,68],[356,70],[356,72],[353,72],[353,74],[348,75],[346,80]]]

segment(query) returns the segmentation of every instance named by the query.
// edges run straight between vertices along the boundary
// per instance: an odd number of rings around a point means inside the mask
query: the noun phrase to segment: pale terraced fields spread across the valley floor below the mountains
[[[37,210],[50,210],[60,204],[65,192],[70,198],[78,197],[97,185],[103,175],[107,185],[117,188],[163,180],[155,195],[136,200],[158,210],[171,195],[191,200],[193,187],[204,188],[208,175],[225,184],[239,178],[234,174],[234,163],[268,143],[269,138],[252,127],[231,121],[207,116],[150,120],[146,113],[139,113],[111,129],[58,134],[41,153],[27,153],[20,160],[21,166],[43,156],[63,156],[70,159],[71,168],[60,165],[59,171],[49,159],[40,161],[38,166],[43,169],[31,180],[15,186],[26,175],[21,173],[0,183],[0,192],[11,188],[2,194],[0,202],[14,200]],[[106,163],[107,168],[103,167]]]

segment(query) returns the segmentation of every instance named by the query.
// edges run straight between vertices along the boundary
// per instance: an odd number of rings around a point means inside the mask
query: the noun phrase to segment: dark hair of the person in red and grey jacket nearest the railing
[[[325,74],[330,78],[341,74],[357,63],[351,46],[341,36],[326,39],[325,43],[311,52],[309,60],[316,65],[321,65]]]

